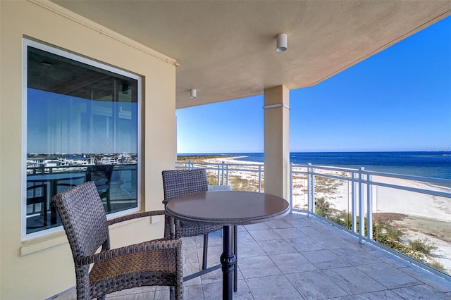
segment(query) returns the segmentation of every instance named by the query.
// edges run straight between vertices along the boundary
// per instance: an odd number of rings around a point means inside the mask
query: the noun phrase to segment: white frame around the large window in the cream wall
[[[123,70],[118,67],[113,67],[106,63],[100,63],[92,58],[87,58],[80,54],[75,54],[70,51],[63,50],[56,46],[51,46],[44,42],[38,42],[34,39],[23,38],[23,69],[22,69],[22,159],[21,159],[21,185],[20,185],[20,232],[21,239],[27,241],[29,239],[35,239],[37,237],[43,237],[46,235],[51,235],[55,232],[62,232],[63,226],[59,225],[56,227],[51,227],[44,230],[39,230],[37,232],[27,233],[27,72],[28,72],[28,46],[32,46],[36,49],[47,51],[51,54],[62,56],[63,58],[69,58],[80,63],[85,63],[91,65],[95,68],[100,68],[102,70],[109,71],[111,73],[116,73],[118,75],[123,75],[125,77],[130,77],[137,80],[137,206],[135,208],[128,208],[123,211],[118,211],[115,213],[109,213],[106,218],[116,218],[122,215],[128,215],[130,213],[135,213],[141,211],[141,178],[142,178],[142,77],[131,73],[130,71]]]

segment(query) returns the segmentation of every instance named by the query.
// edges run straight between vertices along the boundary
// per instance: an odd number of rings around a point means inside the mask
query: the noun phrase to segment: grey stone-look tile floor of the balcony
[[[183,239],[185,275],[199,270],[202,237]],[[219,261],[221,232],[209,236],[209,266]],[[234,299],[451,299],[451,282],[307,215],[292,214],[238,229]],[[186,281],[184,299],[221,299],[221,269]],[[129,289],[106,299],[168,299],[167,287]],[[69,289],[51,299],[75,299]]]

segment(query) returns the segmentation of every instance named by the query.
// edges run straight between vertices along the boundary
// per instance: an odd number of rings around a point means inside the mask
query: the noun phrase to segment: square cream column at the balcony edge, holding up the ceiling
[[[264,192],[290,200],[290,91],[264,90]]]

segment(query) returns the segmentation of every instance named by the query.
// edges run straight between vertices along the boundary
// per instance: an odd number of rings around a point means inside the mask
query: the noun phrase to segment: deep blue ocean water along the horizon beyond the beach
[[[183,154],[185,155],[185,154]],[[263,162],[263,153],[196,154],[241,156],[239,161]],[[451,180],[451,151],[406,151],[406,152],[292,152],[292,163],[329,165],[342,168],[434,177]]]

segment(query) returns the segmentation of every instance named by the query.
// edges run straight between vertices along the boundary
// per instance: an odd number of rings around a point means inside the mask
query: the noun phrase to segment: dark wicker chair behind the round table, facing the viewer
[[[197,192],[207,192],[209,185],[206,179],[205,169],[193,170],[164,170],[163,175],[163,190],[164,200],[163,204],[166,206],[169,201],[178,196],[185,194],[192,194]],[[230,187],[225,189],[230,190]],[[210,189],[212,190],[212,189]],[[171,232],[171,225],[175,232]],[[202,257],[202,270],[206,270],[207,249],[209,232],[221,230],[221,225],[199,225],[194,223],[187,223],[180,220],[165,216],[165,236],[179,239],[180,237],[194,237],[197,235],[204,235],[204,254]],[[237,227],[233,228],[233,244],[234,252],[237,257]],[[202,275],[199,272],[198,275]],[[188,276],[189,278],[193,276]],[[195,277],[195,276],[194,276]],[[235,263],[235,272],[233,274],[233,289],[237,292],[237,263]]]

